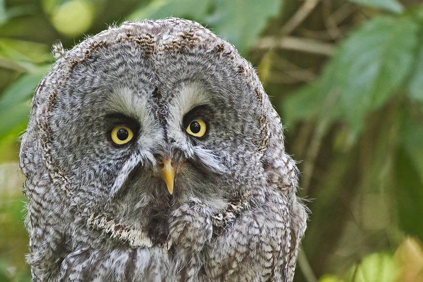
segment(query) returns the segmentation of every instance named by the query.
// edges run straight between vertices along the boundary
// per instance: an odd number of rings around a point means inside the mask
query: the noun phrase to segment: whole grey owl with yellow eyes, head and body
[[[20,149],[32,281],[292,281],[298,171],[233,45],[167,18],[54,49]]]

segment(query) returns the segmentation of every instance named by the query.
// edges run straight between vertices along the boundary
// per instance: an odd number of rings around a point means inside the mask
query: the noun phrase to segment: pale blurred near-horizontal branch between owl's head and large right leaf
[[[332,56],[334,51],[333,44],[294,36],[265,36],[258,39],[253,46],[253,49],[273,48],[294,50],[324,56]]]

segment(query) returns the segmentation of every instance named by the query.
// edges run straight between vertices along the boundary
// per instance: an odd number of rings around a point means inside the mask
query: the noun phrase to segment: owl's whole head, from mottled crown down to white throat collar
[[[271,185],[295,193],[255,70],[199,23],[124,22],[56,50],[22,138],[24,192],[45,199],[28,224],[48,221],[74,244],[155,244],[190,199],[219,222]]]

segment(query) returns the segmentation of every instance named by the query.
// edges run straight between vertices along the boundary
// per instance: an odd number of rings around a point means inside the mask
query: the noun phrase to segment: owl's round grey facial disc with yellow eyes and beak
[[[69,73],[49,108],[49,152],[79,213],[157,233],[190,198],[218,213],[245,192],[260,194],[269,129],[250,65],[202,27],[206,50],[175,46],[179,30],[137,28],[126,40],[110,32],[113,43],[78,63],[61,59]],[[132,40],[153,32],[150,45]]]

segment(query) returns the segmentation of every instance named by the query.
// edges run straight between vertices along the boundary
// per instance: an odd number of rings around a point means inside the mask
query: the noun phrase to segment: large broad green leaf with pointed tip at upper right
[[[415,60],[419,25],[406,17],[376,17],[336,50],[322,88],[339,94],[339,109],[360,131],[367,113],[381,107],[405,81]]]

